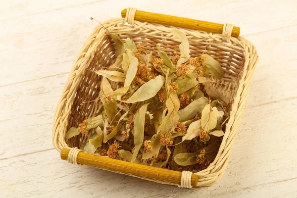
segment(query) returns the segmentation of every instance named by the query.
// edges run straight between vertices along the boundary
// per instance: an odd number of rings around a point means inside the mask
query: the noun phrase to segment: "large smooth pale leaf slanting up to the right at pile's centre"
[[[159,75],[141,86],[129,99],[123,102],[134,103],[154,97],[164,84],[164,77]],[[122,100],[121,100],[122,101]]]

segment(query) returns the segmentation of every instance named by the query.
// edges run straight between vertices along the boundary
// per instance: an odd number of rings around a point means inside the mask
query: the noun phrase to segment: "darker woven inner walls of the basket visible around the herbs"
[[[174,51],[179,51],[180,42],[170,38],[159,39],[148,35],[122,34],[122,40],[131,38],[137,44],[145,45],[146,49],[152,50],[157,55],[156,44],[161,43],[161,49],[168,55],[173,55]],[[196,37],[188,38],[191,49],[191,56],[196,57],[202,53],[212,55],[224,69],[224,77],[220,81],[211,83],[211,86],[221,95],[229,100],[229,104],[233,102],[235,93],[237,92],[239,80],[241,79],[243,68],[245,65],[244,49],[235,44],[216,42],[214,40],[199,39]],[[113,41],[105,35],[101,43],[97,46],[95,56],[88,65],[84,76],[77,89],[71,113],[68,117],[68,129],[72,126],[78,127],[86,116],[93,117],[99,114],[99,86],[100,77],[92,72],[108,67],[116,58],[116,50]],[[93,101],[95,100],[95,101]],[[87,102],[93,101],[93,102]],[[85,102],[85,103],[83,103]],[[231,105],[229,105],[231,106]],[[228,109],[231,110],[230,108]],[[67,129],[67,130],[68,130]],[[86,137],[81,134],[66,140],[69,147],[81,148]]]

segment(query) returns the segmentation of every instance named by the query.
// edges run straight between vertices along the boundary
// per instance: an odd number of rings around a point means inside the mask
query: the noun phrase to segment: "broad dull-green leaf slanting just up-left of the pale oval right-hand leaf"
[[[205,105],[208,103],[208,99],[202,97],[191,102],[185,108],[179,110],[177,113],[180,116],[179,121],[184,122],[193,119],[197,113],[201,113]]]

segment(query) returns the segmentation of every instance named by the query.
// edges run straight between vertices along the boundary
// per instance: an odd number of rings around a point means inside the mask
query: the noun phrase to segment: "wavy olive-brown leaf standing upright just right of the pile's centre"
[[[161,125],[157,129],[158,134],[170,133],[175,129],[179,115],[177,114],[178,109],[180,108],[180,102],[176,95],[176,92],[172,89],[171,86],[167,85],[168,99],[166,100],[166,106],[168,108],[168,113],[162,120]]]

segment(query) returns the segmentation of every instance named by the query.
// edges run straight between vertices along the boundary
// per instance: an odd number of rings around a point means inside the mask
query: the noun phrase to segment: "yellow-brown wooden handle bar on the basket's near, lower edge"
[[[61,150],[61,159],[67,160],[70,149]],[[127,161],[112,159],[99,155],[79,152],[76,161],[78,164],[85,164],[100,169],[120,172],[127,175],[147,178],[165,183],[178,184],[181,186],[182,172],[173,171],[163,168],[156,168],[148,165],[131,163]],[[188,172],[188,171],[187,171]],[[193,174],[191,177],[191,186],[197,186],[198,175]]]

